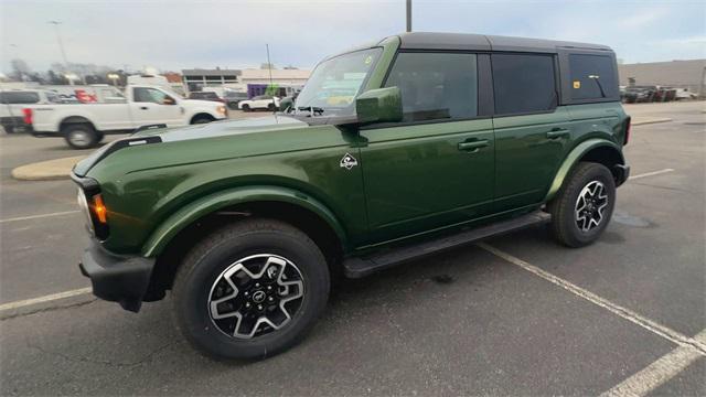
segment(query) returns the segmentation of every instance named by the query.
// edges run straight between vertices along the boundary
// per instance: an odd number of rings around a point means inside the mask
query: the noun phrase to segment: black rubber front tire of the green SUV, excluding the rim
[[[232,264],[258,254],[296,264],[303,281],[301,305],[281,329],[253,339],[220,330],[208,303],[214,282]],[[211,357],[260,360],[299,343],[324,311],[330,276],[319,247],[301,230],[274,219],[245,219],[201,240],[181,264],[172,289],[176,325],[185,339]]]

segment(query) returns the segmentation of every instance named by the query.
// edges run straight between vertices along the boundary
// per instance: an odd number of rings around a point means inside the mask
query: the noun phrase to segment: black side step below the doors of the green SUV
[[[349,258],[343,261],[343,268],[345,276],[350,278],[361,278],[372,272],[410,259],[419,258],[425,255],[436,254],[449,248],[459,247],[483,238],[517,230],[527,226],[547,223],[549,221],[552,221],[552,215],[543,211],[536,211],[507,221],[463,230],[451,236],[439,237],[425,243],[393,248],[368,257]]]

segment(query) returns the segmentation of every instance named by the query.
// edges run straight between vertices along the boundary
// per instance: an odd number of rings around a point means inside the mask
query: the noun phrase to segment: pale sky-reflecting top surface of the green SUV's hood
[[[194,100],[202,101],[202,100]],[[208,101],[205,101],[208,103]],[[213,103],[211,103],[213,104]],[[146,147],[154,149],[152,144],[202,141],[210,138],[227,138],[232,136],[254,135],[267,131],[285,131],[307,127],[308,124],[288,116],[271,115],[244,120],[224,120],[210,124],[178,128],[158,128],[143,130],[129,137],[115,140],[93,152],[86,159],[74,165],[73,172],[77,176],[85,176],[90,169],[108,155],[127,148]],[[184,142],[189,143],[189,142]],[[197,146],[195,142],[193,147]]]

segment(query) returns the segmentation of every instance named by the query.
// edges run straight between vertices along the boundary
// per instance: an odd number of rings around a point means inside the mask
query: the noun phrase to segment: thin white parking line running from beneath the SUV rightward
[[[680,346],[684,346],[684,347],[691,347],[691,348],[696,348],[700,352],[700,354],[706,355],[706,343],[704,343],[704,341],[696,341],[692,337],[688,337],[677,331],[674,331],[667,326],[664,326],[660,323],[656,323],[630,309],[623,308],[619,304],[616,304],[613,302],[610,302],[597,294],[595,294],[593,292],[590,292],[588,290],[582,289],[581,287],[578,287],[567,280],[564,280],[563,278],[556,277],[547,271],[544,271],[542,269],[539,269],[538,267],[531,265],[517,257],[514,257],[507,253],[504,253],[495,247],[492,247],[485,243],[479,243],[478,246],[480,248],[485,249],[486,251],[513,264],[513,265],[517,265],[521,268],[554,283],[557,285],[561,288],[564,288],[565,290],[586,299],[587,301],[597,304],[603,309],[609,310],[610,312],[620,315],[621,318],[635,323],[640,326],[642,326],[643,329],[653,332],[666,340],[670,340],[674,343],[676,343]]]

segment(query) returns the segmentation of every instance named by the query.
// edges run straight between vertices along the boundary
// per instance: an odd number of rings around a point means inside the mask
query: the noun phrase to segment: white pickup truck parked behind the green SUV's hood
[[[35,137],[66,139],[74,149],[96,146],[105,133],[131,132],[152,125],[167,127],[211,122],[227,117],[223,104],[182,99],[163,87],[131,85],[126,97],[109,103],[32,105],[23,110]]]

